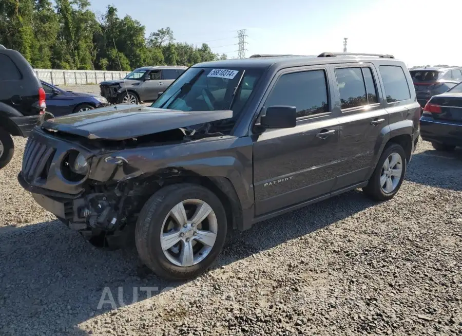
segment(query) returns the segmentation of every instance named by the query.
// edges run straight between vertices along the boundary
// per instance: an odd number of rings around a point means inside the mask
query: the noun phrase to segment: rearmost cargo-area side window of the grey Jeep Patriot
[[[411,98],[406,75],[400,66],[380,65],[379,69],[387,102],[393,103]]]

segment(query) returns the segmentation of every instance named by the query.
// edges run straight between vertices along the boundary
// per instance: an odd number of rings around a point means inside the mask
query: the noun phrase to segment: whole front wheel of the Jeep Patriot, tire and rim
[[[226,213],[203,186],[166,186],[144,204],[135,241],[142,262],[159,276],[185,281],[215,262],[226,239]]]

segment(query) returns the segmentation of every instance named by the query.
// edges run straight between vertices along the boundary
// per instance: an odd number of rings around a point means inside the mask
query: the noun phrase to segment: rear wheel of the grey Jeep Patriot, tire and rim
[[[365,195],[377,201],[392,199],[401,187],[406,173],[406,153],[397,143],[385,147],[369,179],[362,190]]]

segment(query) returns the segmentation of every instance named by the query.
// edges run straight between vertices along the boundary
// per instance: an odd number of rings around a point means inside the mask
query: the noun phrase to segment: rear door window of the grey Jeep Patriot
[[[342,109],[377,103],[377,93],[370,68],[335,69]]]

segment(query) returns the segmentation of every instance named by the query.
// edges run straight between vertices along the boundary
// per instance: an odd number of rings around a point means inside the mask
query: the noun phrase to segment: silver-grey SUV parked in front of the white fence
[[[145,66],[134,69],[124,79],[100,83],[101,96],[112,104],[139,104],[155,101],[187,67],[185,66]]]

